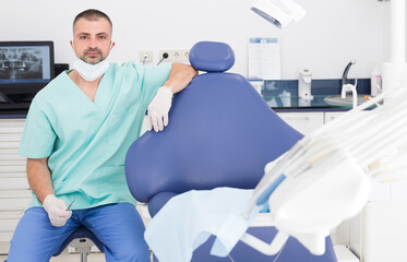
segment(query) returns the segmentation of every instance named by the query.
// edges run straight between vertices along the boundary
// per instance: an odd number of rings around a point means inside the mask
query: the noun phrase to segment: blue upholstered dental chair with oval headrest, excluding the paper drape
[[[125,175],[133,196],[148,203],[152,217],[175,195],[217,187],[253,189],[267,163],[288,151],[302,134],[285,123],[241,75],[225,73],[235,63],[231,48],[202,41],[190,51],[195,76],[173,97],[169,124],[163,132],[146,132],[130,147]],[[171,222],[168,222],[170,226]],[[274,227],[251,227],[252,235],[271,242]],[[274,261],[239,243],[229,258],[210,254],[212,236],[192,257],[196,262]],[[157,261],[155,259],[155,261]],[[332,241],[326,252],[312,255],[290,238],[278,262],[334,262]]]

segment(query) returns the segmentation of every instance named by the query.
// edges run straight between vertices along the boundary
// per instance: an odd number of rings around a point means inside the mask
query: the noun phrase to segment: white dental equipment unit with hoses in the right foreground
[[[324,253],[325,237],[362,210],[373,181],[407,177],[406,95],[399,90],[366,102],[276,160],[256,186],[244,216],[258,205],[268,205],[279,233],[271,245],[249,234],[242,241],[276,253],[294,236],[311,253]],[[381,105],[384,98],[392,103]],[[363,111],[372,106],[376,108]]]

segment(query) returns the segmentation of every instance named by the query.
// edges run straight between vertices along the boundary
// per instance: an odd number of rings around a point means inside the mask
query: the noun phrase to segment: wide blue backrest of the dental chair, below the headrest
[[[133,143],[125,171],[134,198],[215,187],[254,188],[264,166],[300,133],[286,124],[242,76],[195,76],[173,98],[170,124]]]

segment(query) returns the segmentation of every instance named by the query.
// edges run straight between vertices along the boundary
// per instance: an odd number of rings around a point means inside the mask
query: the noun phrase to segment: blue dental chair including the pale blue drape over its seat
[[[153,217],[144,237],[161,262],[273,261],[239,239],[247,230],[273,239],[276,228],[268,226],[270,219],[251,226],[241,214],[264,166],[303,135],[284,122],[244,76],[227,72],[235,62],[229,45],[196,43],[190,62],[207,73],[173,97],[170,124],[163,132],[143,134],[127,155],[130,192],[147,203]],[[325,250],[313,255],[290,238],[278,261],[335,262],[330,237]]]

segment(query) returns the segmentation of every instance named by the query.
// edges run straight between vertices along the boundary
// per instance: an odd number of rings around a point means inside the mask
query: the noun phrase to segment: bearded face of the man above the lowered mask
[[[103,17],[96,21],[80,19],[73,28],[71,46],[76,57],[87,63],[95,64],[105,60],[115,46],[109,22]]]

